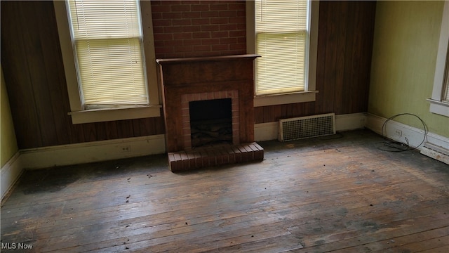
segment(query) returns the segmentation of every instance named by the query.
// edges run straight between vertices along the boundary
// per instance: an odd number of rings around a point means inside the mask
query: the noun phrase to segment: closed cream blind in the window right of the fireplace
[[[255,1],[256,95],[304,91],[307,0]]]

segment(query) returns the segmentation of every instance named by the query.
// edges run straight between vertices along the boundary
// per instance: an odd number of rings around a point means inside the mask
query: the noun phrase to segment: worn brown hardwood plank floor
[[[26,171],[2,252],[449,252],[449,166],[382,141],[260,142],[263,162],[179,174],[166,155]]]

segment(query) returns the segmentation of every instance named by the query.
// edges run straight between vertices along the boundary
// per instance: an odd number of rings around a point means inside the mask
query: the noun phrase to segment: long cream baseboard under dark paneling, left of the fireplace
[[[23,168],[40,169],[165,152],[165,135],[159,134],[20,150],[20,158]]]

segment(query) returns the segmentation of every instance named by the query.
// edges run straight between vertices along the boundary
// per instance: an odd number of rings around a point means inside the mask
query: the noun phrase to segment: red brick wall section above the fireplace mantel
[[[245,1],[152,1],[156,58],[246,53]]]

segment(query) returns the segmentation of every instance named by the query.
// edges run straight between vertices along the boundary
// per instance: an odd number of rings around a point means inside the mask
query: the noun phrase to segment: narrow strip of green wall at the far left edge
[[[11,109],[9,108],[8,94],[6,93],[6,85],[3,77],[3,70],[1,69],[1,115],[0,115],[0,167],[3,167],[8,160],[18,152],[17,141],[15,140],[15,132],[13,126],[13,117],[11,116]]]

